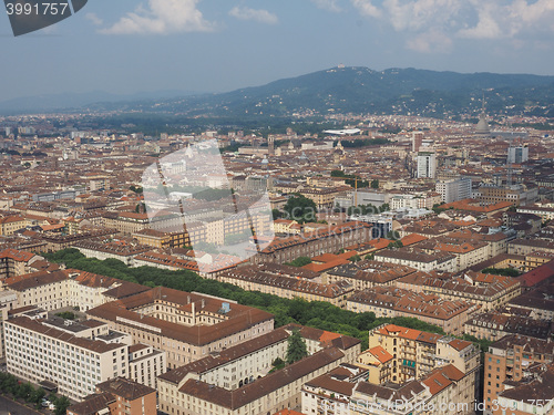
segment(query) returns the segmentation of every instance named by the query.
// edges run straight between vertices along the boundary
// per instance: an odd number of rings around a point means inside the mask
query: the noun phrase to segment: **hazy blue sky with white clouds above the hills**
[[[554,0],[89,0],[14,38],[0,101],[225,92],[338,64],[554,75]]]

